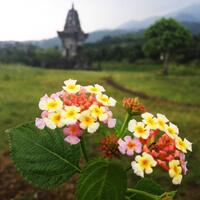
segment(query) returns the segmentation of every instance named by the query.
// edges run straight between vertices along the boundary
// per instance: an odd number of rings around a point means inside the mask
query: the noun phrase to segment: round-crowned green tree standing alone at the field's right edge
[[[162,18],[145,32],[144,52],[148,56],[160,55],[163,60],[163,74],[169,71],[169,62],[192,40],[191,33],[176,20]]]

